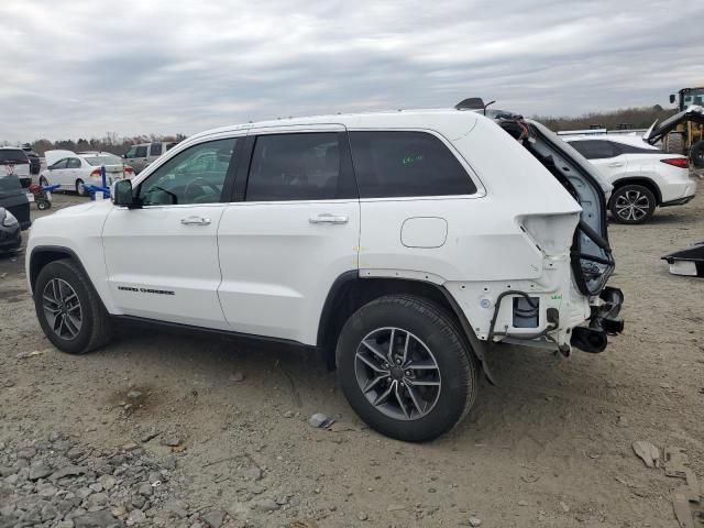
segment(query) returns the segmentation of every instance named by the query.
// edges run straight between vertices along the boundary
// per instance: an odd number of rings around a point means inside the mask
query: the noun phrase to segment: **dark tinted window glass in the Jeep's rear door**
[[[261,135],[256,139],[246,201],[356,198],[341,134],[315,132]],[[349,154],[348,154],[349,160]]]

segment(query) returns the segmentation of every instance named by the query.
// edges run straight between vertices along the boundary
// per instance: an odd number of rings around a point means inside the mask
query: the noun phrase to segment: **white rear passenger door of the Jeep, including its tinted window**
[[[316,344],[334,280],[358,271],[360,202],[341,125],[253,130],[220,222],[219,295],[238,332]]]

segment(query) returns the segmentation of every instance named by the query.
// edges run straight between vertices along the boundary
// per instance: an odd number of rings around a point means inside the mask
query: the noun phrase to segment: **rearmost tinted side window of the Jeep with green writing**
[[[350,132],[361,198],[473,195],[476,186],[450,150],[426,132]]]

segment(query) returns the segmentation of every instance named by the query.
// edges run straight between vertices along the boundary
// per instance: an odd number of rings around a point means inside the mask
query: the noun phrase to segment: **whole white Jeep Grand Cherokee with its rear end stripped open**
[[[65,352],[116,318],[315,346],[370,426],[421,441],[491,380],[487,343],[622,330],[605,211],[588,162],[507,112],[292,119],[197,134],[36,220],[26,275]]]

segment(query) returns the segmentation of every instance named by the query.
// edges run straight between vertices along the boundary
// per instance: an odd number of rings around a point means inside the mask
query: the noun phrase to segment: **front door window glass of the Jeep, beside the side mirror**
[[[232,161],[235,138],[209,141],[178,153],[140,185],[143,206],[217,204]]]

